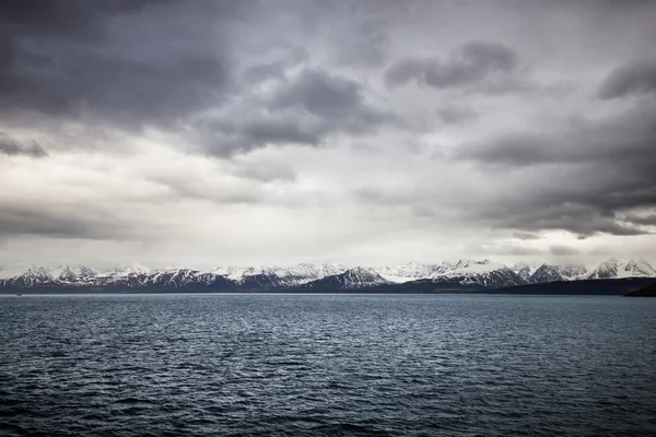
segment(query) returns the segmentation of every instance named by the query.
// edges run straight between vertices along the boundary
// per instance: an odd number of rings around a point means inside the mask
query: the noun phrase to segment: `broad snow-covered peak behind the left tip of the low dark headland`
[[[453,269],[436,273],[431,279],[433,282],[457,282],[488,288],[526,284],[526,281],[506,265],[490,260],[460,260]]]

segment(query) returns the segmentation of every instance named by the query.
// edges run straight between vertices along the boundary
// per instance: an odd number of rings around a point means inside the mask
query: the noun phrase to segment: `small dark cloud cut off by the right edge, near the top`
[[[599,85],[602,99],[656,92],[656,60],[634,62],[611,72]]]

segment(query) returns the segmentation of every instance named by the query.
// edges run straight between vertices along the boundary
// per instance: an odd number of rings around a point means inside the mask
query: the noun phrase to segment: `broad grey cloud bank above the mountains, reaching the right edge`
[[[514,134],[464,145],[455,157],[489,165],[489,172],[534,169],[523,189],[530,196],[500,202],[504,210],[496,214],[507,226],[564,228],[582,237],[645,234],[649,231],[635,226],[640,223],[621,224],[618,214],[656,206],[654,114],[654,106],[645,104],[553,134]],[[561,176],[550,180],[550,174]]]

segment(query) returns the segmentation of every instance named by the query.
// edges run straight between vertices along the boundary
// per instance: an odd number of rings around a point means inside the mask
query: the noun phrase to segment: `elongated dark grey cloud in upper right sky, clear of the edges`
[[[519,58],[508,47],[475,40],[452,51],[445,61],[436,57],[399,60],[387,70],[385,81],[388,86],[415,81],[436,88],[457,88],[480,84],[494,75],[507,76],[518,67]]]

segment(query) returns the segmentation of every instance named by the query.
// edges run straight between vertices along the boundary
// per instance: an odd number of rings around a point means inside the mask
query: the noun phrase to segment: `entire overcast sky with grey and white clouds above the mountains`
[[[656,264],[656,2],[0,3],[0,264]]]

